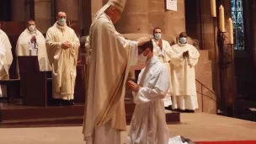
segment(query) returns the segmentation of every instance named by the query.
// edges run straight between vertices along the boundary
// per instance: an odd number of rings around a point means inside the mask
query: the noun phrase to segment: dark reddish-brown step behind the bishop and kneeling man
[[[126,122],[131,122],[135,104],[125,101]],[[51,125],[51,124],[83,124],[84,105],[28,107],[8,104],[0,109],[1,125]],[[179,122],[179,113],[166,114],[168,122]]]

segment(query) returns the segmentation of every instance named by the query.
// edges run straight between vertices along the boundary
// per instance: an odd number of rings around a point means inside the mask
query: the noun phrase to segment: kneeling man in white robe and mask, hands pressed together
[[[139,60],[146,61],[138,84],[129,81],[136,107],[131,118],[126,144],[188,144],[181,136],[169,138],[163,98],[168,93],[169,71],[153,56],[152,40],[139,47]]]

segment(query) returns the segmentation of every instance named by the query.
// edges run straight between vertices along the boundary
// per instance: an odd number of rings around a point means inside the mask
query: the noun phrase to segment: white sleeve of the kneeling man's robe
[[[136,104],[147,103],[156,99],[163,99],[168,93],[169,75],[167,68],[163,67],[156,72],[149,80],[148,85],[154,85],[153,88],[141,87],[138,93],[134,94]]]

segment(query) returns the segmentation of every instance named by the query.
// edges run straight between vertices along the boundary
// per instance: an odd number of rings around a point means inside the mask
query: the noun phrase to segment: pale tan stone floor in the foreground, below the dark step
[[[256,140],[256,122],[204,113],[182,114],[181,124],[168,125],[170,135],[193,141]],[[127,126],[129,128],[129,126]],[[0,128],[1,144],[84,144],[80,125],[26,125]],[[122,133],[125,142],[126,132]]]

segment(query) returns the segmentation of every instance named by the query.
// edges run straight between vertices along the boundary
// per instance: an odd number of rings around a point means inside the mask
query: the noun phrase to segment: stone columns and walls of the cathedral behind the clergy
[[[15,45],[26,21],[35,19],[44,35],[56,21],[56,13],[67,13],[68,25],[81,40],[88,35],[93,16],[107,0],[1,0],[2,29]],[[234,43],[228,32],[220,32],[219,7],[225,8],[225,20],[232,19]],[[196,67],[199,111],[250,119],[248,108],[256,107],[256,0],[216,0],[217,16],[212,16],[209,0],[179,0],[178,10],[166,9],[164,0],[127,0],[122,19],[115,25],[127,39],[152,35],[163,29],[163,38],[173,45],[185,31],[190,43],[200,50]],[[226,23],[226,28],[228,27]],[[15,59],[15,58],[14,58]],[[10,77],[17,77],[15,66]]]

